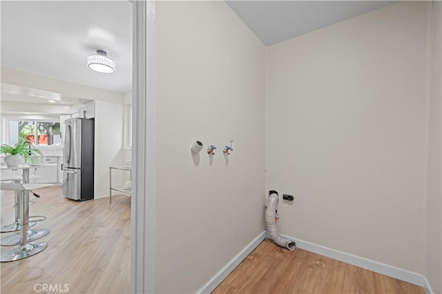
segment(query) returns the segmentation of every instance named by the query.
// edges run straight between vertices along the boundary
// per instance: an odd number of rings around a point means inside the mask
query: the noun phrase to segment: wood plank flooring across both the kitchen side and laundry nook
[[[131,199],[124,195],[74,202],[61,187],[41,188],[30,215],[46,215],[35,228],[51,232],[48,248],[0,264],[1,293],[35,293],[36,284],[68,285],[68,293],[129,293]],[[14,218],[5,195],[1,224]],[[9,235],[2,233],[1,237]],[[1,246],[1,250],[9,246]],[[425,293],[423,288],[297,248],[262,242],[213,293]]]

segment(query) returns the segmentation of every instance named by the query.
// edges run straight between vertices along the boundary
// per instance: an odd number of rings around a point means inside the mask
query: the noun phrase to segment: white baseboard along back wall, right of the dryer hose
[[[387,275],[388,277],[394,277],[395,279],[409,282],[425,288],[425,293],[432,293],[430,284],[427,279],[420,275],[419,273],[413,273],[411,271],[404,270],[402,268],[396,268],[395,266],[389,266],[387,264],[382,264],[381,262],[374,262],[373,260],[366,259],[363,257],[358,257],[349,253],[344,253],[342,251],[337,251],[324,246],[316,245],[310,242],[306,242],[300,239],[292,238],[286,236],[290,239],[294,239],[296,242],[296,247],[329,257],[332,259],[339,260],[340,262],[345,262],[346,264],[352,264],[360,268],[365,268],[369,271],[374,271],[375,273],[381,273],[382,275]]]

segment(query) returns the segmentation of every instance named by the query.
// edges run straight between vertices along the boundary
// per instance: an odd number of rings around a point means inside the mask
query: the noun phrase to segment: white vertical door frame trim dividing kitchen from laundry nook
[[[55,3],[54,1],[50,2]],[[60,1],[56,4],[62,4],[63,2]],[[102,3],[102,1],[100,2]],[[148,52],[148,48],[153,48],[153,38],[147,41],[146,34],[149,31],[153,32],[155,3],[145,1],[131,1],[131,3],[134,16],[133,43],[134,47],[137,46],[138,48],[134,50],[137,57],[134,55],[133,60],[135,65],[133,68],[133,92],[135,94],[133,95],[132,121],[133,133],[135,135],[133,135],[132,139],[132,161],[135,171],[133,173],[134,193],[131,198],[131,235],[133,237],[131,242],[131,277],[134,277],[131,278],[131,289],[133,292],[146,293],[153,292],[155,289],[153,284],[155,264],[153,262],[155,256],[155,248],[153,246],[153,237],[155,235],[155,165],[153,164],[155,134],[153,122],[155,121],[155,112],[153,111],[153,99],[146,99],[153,97],[153,87],[149,87],[149,90],[146,90],[148,88],[147,84],[151,83],[153,78],[153,67],[148,70],[146,66],[147,63],[150,63],[149,61],[153,60],[153,52]],[[1,4],[3,5],[3,3]],[[32,13],[29,12],[28,14]],[[137,23],[137,26],[135,26],[135,23]],[[2,28],[7,27],[5,25],[2,26]],[[136,38],[135,35],[137,35]],[[35,49],[38,50],[38,46]],[[3,75],[2,82],[4,77]],[[137,81],[135,81],[135,77],[137,77]],[[76,97],[70,98],[75,100]],[[149,162],[149,165],[146,162]],[[71,291],[74,290],[74,288],[71,289]]]

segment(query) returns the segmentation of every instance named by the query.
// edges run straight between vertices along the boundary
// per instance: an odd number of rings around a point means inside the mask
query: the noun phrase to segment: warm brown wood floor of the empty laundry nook
[[[263,241],[218,293],[422,293],[422,287],[296,248]]]

